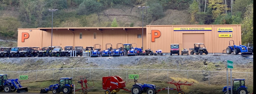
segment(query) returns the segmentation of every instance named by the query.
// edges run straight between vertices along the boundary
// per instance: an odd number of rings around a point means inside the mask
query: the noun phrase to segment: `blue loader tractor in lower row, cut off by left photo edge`
[[[0,74],[0,91],[4,90],[4,92],[11,92],[15,91],[20,92],[26,92],[27,87],[23,87],[18,79],[8,79],[7,74]]]

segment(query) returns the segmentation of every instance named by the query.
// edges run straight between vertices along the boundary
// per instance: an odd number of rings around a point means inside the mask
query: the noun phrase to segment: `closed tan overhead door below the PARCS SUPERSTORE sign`
[[[204,33],[182,34],[182,48],[189,50],[189,48],[193,48],[194,43],[204,43]]]

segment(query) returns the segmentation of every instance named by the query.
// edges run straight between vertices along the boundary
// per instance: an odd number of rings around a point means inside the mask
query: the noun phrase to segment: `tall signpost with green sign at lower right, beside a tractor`
[[[226,90],[227,90],[227,94],[228,94],[228,68],[230,68],[230,94],[232,94],[232,68],[233,68],[233,61],[231,60],[227,60],[226,61]]]

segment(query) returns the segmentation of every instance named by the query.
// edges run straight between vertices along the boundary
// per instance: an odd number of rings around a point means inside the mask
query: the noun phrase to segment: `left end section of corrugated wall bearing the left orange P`
[[[29,31],[31,30],[31,31]],[[21,42],[22,32],[27,32],[29,37],[24,39],[24,42]],[[42,30],[37,28],[29,28],[29,29],[18,29],[18,39],[17,39],[17,46],[38,46],[41,47],[42,41]]]

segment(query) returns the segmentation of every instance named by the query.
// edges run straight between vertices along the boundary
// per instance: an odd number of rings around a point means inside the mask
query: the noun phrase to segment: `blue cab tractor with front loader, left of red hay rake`
[[[51,84],[49,87],[41,89],[40,93],[47,93],[52,91],[52,93],[63,92],[64,94],[72,93],[73,91],[72,77],[61,77],[58,80],[58,83]]]

